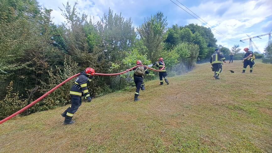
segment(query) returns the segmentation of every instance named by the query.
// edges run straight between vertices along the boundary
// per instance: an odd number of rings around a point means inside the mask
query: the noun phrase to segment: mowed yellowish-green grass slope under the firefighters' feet
[[[224,64],[215,80],[200,64],[168,86],[145,82],[141,101],[132,88],[83,103],[72,125],[68,106],[17,117],[0,125],[0,152],[271,152],[272,65],[241,71]]]

